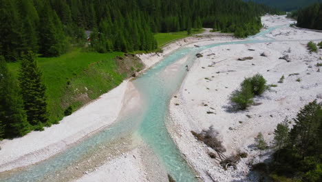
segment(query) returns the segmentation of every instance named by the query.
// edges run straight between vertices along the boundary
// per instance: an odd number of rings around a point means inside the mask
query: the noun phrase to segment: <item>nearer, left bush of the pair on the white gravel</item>
[[[241,90],[235,90],[230,96],[230,101],[235,103],[238,109],[246,110],[253,103],[253,86],[250,79],[245,79],[241,84]]]

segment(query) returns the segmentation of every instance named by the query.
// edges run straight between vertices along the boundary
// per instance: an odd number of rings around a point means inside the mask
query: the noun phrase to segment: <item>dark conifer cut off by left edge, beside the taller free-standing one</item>
[[[17,83],[0,57],[0,138],[23,136],[30,132]],[[2,134],[2,136],[1,136]]]

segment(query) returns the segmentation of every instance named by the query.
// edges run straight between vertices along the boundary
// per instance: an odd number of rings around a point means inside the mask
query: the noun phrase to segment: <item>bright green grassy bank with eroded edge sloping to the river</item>
[[[82,52],[81,49],[61,57],[39,57],[38,62],[47,87],[49,125],[58,123],[69,106],[72,110],[80,108],[144,67],[133,55]],[[17,76],[20,63],[8,63],[8,67]]]

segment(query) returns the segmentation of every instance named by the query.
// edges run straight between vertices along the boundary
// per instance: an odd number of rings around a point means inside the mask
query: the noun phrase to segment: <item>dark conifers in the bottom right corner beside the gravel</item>
[[[275,181],[322,181],[322,103],[312,101],[275,129],[270,176]]]

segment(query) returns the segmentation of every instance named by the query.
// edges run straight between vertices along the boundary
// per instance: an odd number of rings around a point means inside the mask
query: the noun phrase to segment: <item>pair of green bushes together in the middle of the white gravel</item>
[[[240,84],[241,88],[230,95],[233,106],[239,110],[245,110],[253,104],[253,97],[263,94],[267,88],[266,80],[261,74],[246,78]]]

